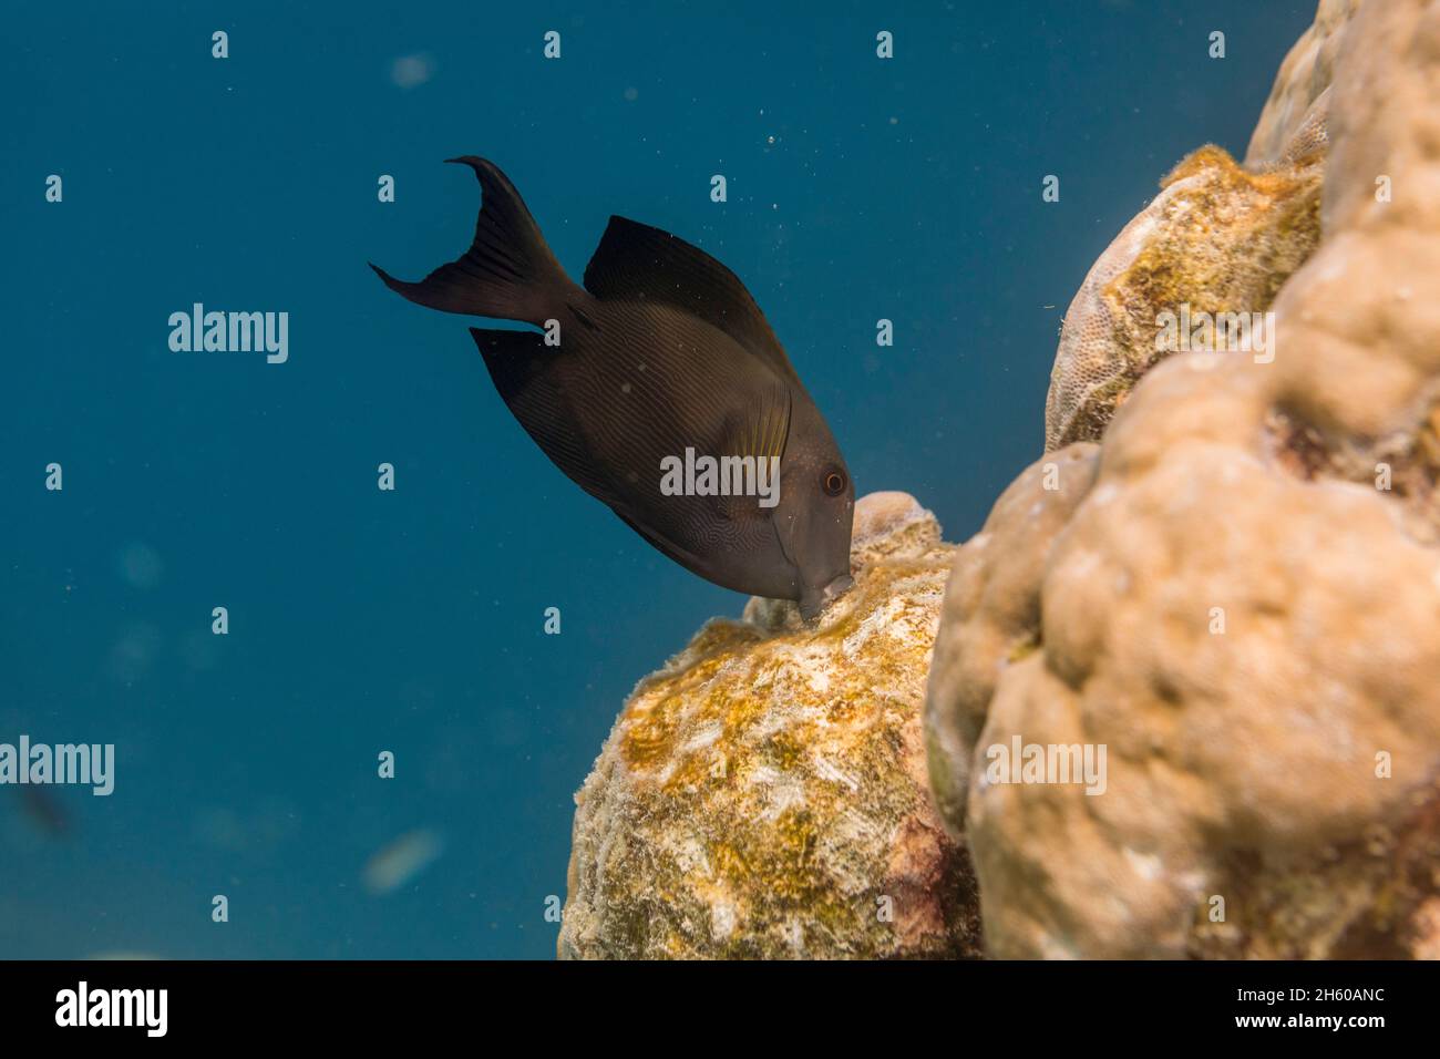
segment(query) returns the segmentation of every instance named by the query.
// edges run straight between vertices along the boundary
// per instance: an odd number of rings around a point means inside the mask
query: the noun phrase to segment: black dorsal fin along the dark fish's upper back
[[[698,246],[626,218],[611,218],[585,288],[596,298],[662,301],[729,334],[780,377],[799,383],[791,359],[744,284]]]

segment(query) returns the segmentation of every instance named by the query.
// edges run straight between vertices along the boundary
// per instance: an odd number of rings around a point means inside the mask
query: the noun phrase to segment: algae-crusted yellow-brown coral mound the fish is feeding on
[[[864,497],[816,622],[752,599],[639,683],[576,795],[562,957],[979,955],[920,736],[953,553],[912,497]]]

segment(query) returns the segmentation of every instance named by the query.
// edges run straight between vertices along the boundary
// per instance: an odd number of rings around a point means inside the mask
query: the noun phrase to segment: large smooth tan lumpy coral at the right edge
[[[1440,954],[1440,3],[1312,43],[1251,148],[1333,55],[1273,360],[1155,366],[956,558],[926,730],[994,955]],[[1104,748],[1103,790],[1015,741]]]

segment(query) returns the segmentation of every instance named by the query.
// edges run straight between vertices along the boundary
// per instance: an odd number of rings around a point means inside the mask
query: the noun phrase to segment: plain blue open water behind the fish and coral
[[[118,765],[109,798],[53,792],[63,834],[0,788],[0,957],[553,954],[572,795],[621,702],[743,599],[562,477],[478,321],[366,268],[468,245],[478,190],[442,158],[505,169],[576,277],[611,213],[719,256],[857,493],[907,490],[963,539],[1041,451],[1090,264],[1187,151],[1244,151],[1313,6],[7,12],[0,742],[112,742]],[[403,56],[428,79],[396,84]],[[196,301],[288,311],[288,363],[170,352]],[[418,830],[442,854],[369,892]]]

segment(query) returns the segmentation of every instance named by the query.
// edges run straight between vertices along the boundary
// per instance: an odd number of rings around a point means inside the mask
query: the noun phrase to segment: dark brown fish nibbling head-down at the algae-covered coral
[[[480,177],[475,242],[420,282],[372,265],[390,290],[446,313],[559,327],[559,346],[537,331],[471,334],[544,454],[681,566],[796,599],[806,618],[850,588],[850,473],[736,275],[668,232],[612,216],[577,287],[504,173],[451,161]],[[723,468],[719,481],[704,477],[706,457]],[[776,465],[778,497],[756,496]],[[677,481],[690,491],[674,494]],[[720,483],[729,496],[703,494]]]

